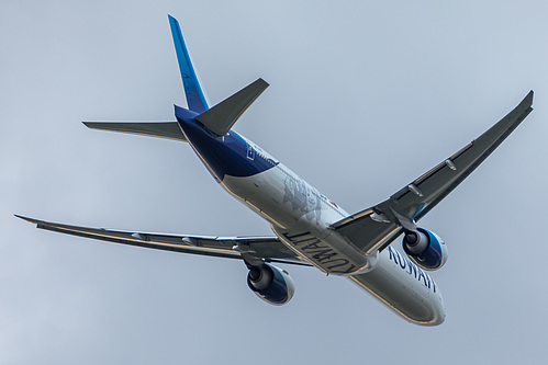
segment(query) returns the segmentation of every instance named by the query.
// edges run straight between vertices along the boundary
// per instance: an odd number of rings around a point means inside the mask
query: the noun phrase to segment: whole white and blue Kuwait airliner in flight
[[[417,223],[452,192],[533,111],[533,91],[500,122],[389,198],[348,214],[327,196],[232,129],[265,91],[258,79],[210,107],[179,22],[168,15],[187,106],[171,122],[83,122],[92,129],[188,142],[227,193],[262,217],[271,237],[204,237],[70,226],[20,215],[37,228],[130,246],[241,260],[262,300],[284,305],[294,283],[275,264],[314,266],[347,277],[382,305],[421,326],[444,322],[439,287],[427,274],[448,258],[446,243]],[[400,253],[392,242],[403,235]]]

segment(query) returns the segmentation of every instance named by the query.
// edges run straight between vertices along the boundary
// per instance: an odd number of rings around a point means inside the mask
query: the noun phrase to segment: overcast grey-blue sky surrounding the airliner
[[[186,144],[81,121],[174,121],[167,14],[210,101],[262,77],[235,129],[350,213],[444,160],[535,90],[535,111],[421,224],[446,322],[410,324],[340,277],[286,266],[283,307],[242,262],[37,230],[270,235]],[[0,4],[0,364],[544,364],[546,1]],[[400,242],[395,242],[400,247]]]

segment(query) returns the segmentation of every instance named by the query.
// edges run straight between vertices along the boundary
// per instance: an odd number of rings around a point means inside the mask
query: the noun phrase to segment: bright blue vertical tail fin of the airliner
[[[187,104],[189,109],[198,114],[205,112],[208,101],[200,88],[200,82],[195,76],[190,60],[190,55],[182,38],[181,27],[179,22],[171,15],[169,18],[169,25],[171,26],[171,34],[174,36],[175,52],[177,53],[177,60],[179,61],[179,69],[181,71],[182,85],[184,88],[184,95],[187,96]]]

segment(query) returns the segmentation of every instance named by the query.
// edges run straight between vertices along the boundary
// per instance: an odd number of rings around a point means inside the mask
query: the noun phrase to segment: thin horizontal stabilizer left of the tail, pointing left
[[[83,122],[91,129],[131,133],[187,141],[177,122]]]

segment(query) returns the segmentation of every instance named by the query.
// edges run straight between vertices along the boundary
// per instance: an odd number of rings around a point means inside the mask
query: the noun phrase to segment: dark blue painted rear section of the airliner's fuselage
[[[279,162],[264,157],[253,149],[237,133],[217,136],[197,122],[192,112],[176,105],[176,117],[188,141],[202,162],[220,182],[225,175],[251,176],[267,171]]]

